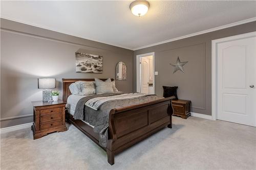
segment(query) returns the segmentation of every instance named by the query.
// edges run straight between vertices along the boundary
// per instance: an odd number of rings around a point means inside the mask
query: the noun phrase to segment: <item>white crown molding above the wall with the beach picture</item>
[[[66,33],[66,32],[61,32],[61,31],[57,31],[57,30],[50,29],[50,28],[47,28],[47,27],[35,25],[35,24],[29,23],[29,22],[24,22],[24,21],[8,18],[8,17],[5,17],[5,16],[1,16],[1,18],[7,19],[7,20],[11,20],[11,21],[14,21],[14,22],[24,23],[26,25],[37,27],[37,28],[41,28],[41,29],[46,29],[46,30],[58,32],[58,33],[61,33],[61,34],[71,35],[71,36],[74,36],[74,37],[79,37],[79,38],[83,38],[83,39],[87,39],[87,40],[91,40],[91,41],[95,41],[95,42],[100,42],[100,43],[107,44],[107,45],[113,45],[113,46],[116,46],[116,47],[125,48],[127,50],[133,50],[132,48],[129,48],[129,47],[126,47],[126,46],[117,45],[117,44],[114,44],[114,43],[111,43],[111,42],[104,42],[104,41],[99,41],[99,40],[96,40],[96,39],[87,38],[87,37],[84,37],[82,35],[74,35],[74,34],[70,34],[70,33]]]

